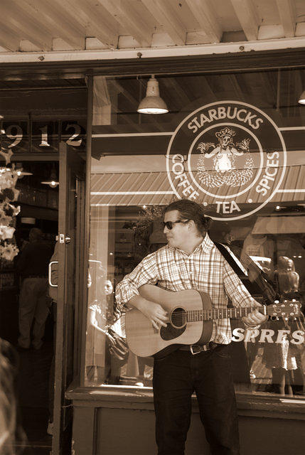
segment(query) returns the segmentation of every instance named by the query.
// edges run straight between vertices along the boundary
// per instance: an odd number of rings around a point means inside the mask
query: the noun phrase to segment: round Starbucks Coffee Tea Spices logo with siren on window
[[[178,198],[213,205],[214,219],[234,220],[272,199],[286,161],[273,120],[257,107],[226,101],[200,107],[178,125],[166,166]]]

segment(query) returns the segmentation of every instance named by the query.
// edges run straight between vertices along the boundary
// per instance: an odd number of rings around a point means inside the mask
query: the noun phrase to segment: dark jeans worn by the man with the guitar
[[[212,455],[239,455],[231,346],[192,355],[176,350],[154,361],[154,406],[159,455],[183,455],[196,392]]]

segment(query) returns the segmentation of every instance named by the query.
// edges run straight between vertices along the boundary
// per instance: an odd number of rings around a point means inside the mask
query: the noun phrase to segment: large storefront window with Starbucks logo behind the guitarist
[[[270,316],[254,330],[231,319],[236,390],[301,399],[304,70],[158,76],[162,115],[137,112],[148,80],[95,77],[85,384],[151,387],[153,358],[129,350],[114,292],[166,244],[164,207],[189,198]]]

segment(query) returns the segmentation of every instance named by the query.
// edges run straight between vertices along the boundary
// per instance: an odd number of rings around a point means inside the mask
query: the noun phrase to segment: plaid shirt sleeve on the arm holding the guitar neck
[[[257,301],[253,299],[250,292],[242,284],[226,260],[224,261],[223,267],[223,282],[225,284],[225,291],[234,306],[252,306],[253,308],[257,306]]]

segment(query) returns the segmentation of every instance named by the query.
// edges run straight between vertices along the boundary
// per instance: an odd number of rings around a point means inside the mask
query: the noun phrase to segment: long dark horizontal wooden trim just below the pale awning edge
[[[178,50],[177,50],[178,52]],[[0,80],[85,77],[85,75],[170,75],[180,73],[230,73],[304,67],[305,48],[138,58],[128,60],[79,60],[39,63],[1,63]]]

